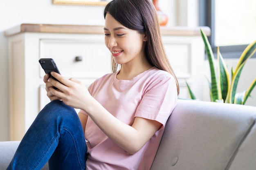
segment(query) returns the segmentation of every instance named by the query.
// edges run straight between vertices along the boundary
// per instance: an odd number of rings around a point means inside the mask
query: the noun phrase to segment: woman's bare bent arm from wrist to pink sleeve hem
[[[112,141],[130,154],[139,151],[162,126],[158,121],[141,117],[135,117],[134,123],[129,126],[111,115],[97,101],[89,109],[84,109]]]

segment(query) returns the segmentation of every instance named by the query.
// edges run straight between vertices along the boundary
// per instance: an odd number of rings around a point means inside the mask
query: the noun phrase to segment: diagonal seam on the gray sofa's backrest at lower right
[[[241,140],[238,142],[238,145],[236,146],[234,152],[232,153],[228,163],[227,163],[227,166],[225,167],[224,170],[229,170],[231,164],[233,163],[237,153],[238,153],[238,150],[240,149],[240,146],[243,144],[243,142],[245,141],[245,139],[248,137],[249,133],[252,131],[252,128],[254,127],[254,125],[256,124],[256,118],[254,118],[254,120],[252,121],[252,124],[250,125],[250,127],[248,128],[248,130],[245,132],[245,134],[243,135],[243,137],[241,138]]]

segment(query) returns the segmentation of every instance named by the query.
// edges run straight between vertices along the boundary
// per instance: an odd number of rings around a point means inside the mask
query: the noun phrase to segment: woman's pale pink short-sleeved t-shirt
[[[90,94],[120,121],[132,125],[135,117],[156,120],[163,126],[137,153],[130,155],[88,117],[86,170],[150,170],[164,125],[177,103],[175,79],[166,71],[152,67],[130,80],[118,80],[110,73],[90,85]],[[81,113],[86,114],[83,110]]]

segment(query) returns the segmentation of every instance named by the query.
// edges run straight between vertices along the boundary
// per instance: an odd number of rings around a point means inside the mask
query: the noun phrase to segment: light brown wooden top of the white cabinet
[[[183,35],[183,36],[195,36],[200,35],[200,28],[206,33],[211,34],[211,30],[207,26],[202,27],[184,27],[174,26],[166,27],[161,26],[162,35]],[[81,33],[81,34],[103,34],[103,26],[94,25],[59,25],[59,24],[20,24],[13,28],[4,31],[5,36],[11,36],[18,33]]]

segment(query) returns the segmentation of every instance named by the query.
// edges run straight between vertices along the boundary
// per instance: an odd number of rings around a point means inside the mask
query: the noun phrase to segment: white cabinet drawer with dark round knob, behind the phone
[[[111,72],[111,54],[102,36],[86,40],[41,39],[40,58],[53,58],[61,74],[68,78],[95,79]],[[44,75],[40,68],[40,77]]]

